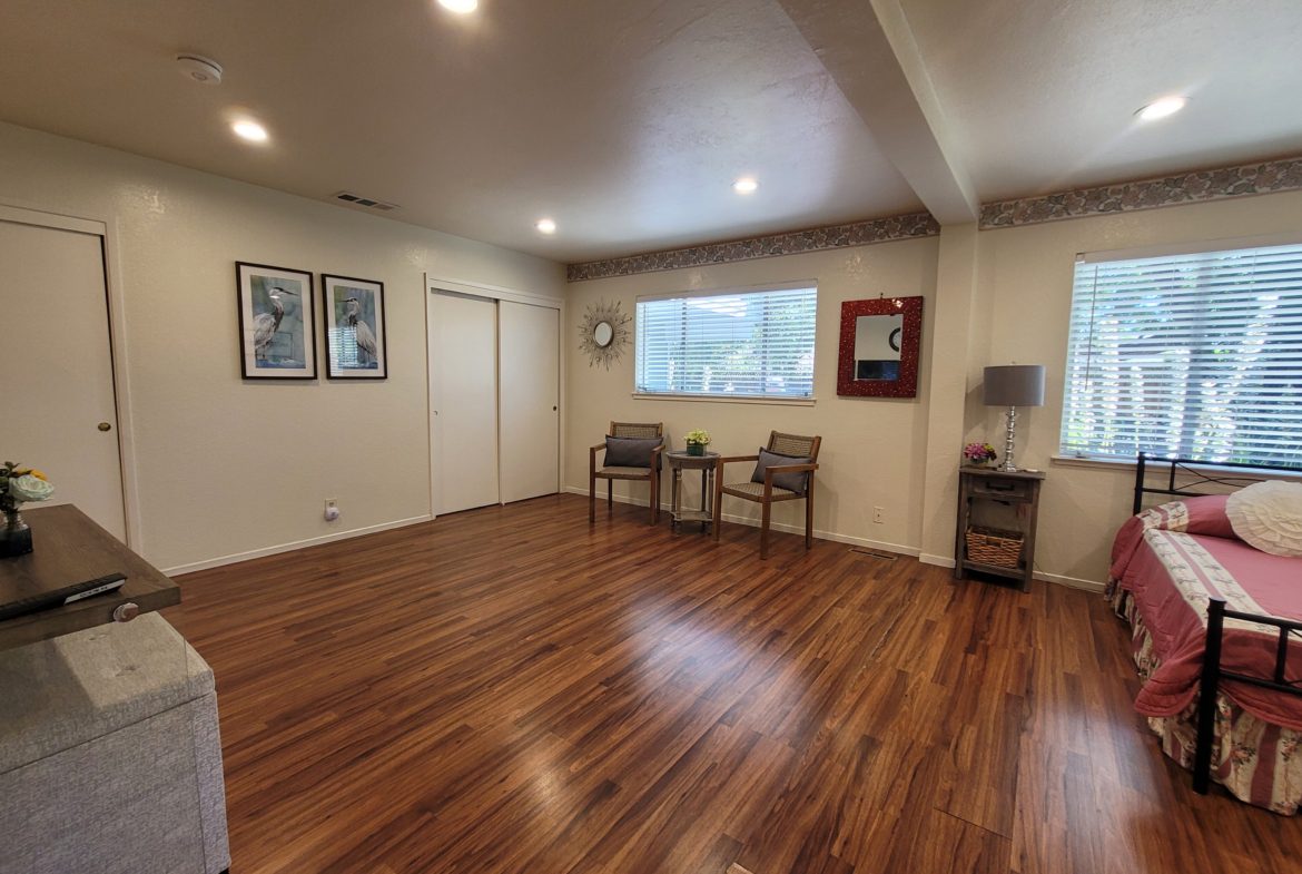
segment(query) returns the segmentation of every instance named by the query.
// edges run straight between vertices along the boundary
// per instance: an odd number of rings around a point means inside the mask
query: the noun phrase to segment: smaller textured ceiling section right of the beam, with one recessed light
[[[901,7],[983,201],[1302,154],[1298,0]]]

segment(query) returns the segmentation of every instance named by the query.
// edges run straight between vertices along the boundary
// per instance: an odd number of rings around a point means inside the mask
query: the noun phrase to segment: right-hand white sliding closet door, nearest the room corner
[[[560,310],[499,301],[501,501],[560,488]]]

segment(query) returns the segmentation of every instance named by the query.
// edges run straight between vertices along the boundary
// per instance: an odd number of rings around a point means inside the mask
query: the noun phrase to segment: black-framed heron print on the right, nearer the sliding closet
[[[326,375],[387,379],[384,283],[322,274],[326,309]]]

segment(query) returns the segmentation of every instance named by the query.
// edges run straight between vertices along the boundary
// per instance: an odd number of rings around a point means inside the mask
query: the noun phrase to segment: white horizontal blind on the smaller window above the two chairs
[[[812,397],[818,289],[639,300],[639,393]]]

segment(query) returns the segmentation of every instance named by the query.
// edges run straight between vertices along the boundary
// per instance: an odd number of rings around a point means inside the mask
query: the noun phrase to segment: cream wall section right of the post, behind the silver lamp
[[[1036,565],[1068,581],[1103,582],[1112,534],[1130,513],[1131,470],[1053,462],[1062,416],[1068,315],[1077,253],[1302,233],[1302,193],[1213,201],[1056,221],[979,237],[979,298],[988,306],[986,363],[1043,363],[1044,406],[1018,412],[1017,462],[1048,470]],[[979,370],[976,371],[979,383]],[[975,388],[975,383],[973,384]],[[1023,416],[1025,414],[1025,416]],[[1000,410],[969,395],[969,439],[1003,445]]]

